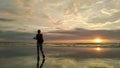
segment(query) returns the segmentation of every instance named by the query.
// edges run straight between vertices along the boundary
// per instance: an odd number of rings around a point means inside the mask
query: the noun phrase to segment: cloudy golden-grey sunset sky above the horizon
[[[0,0],[0,41],[120,41],[120,0]]]

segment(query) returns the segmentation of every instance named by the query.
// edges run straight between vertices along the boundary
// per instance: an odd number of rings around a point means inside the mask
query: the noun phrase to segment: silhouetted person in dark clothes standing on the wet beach
[[[44,52],[43,52],[43,45],[42,45],[44,40],[43,40],[43,34],[41,33],[41,30],[37,31],[37,34],[36,34],[36,36],[33,39],[37,40],[37,61],[39,62],[40,51],[41,51],[43,59],[45,59],[45,55],[44,55]]]

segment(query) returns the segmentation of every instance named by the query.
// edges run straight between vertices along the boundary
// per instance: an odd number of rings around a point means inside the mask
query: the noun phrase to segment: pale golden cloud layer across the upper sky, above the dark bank
[[[118,4],[119,0],[5,0],[0,4],[4,6],[0,7],[0,11],[15,14],[14,18],[21,16],[18,18],[21,22],[30,22],[30,25],[41,22],[42,26],[54,30],[76,27],[103,29],[104,26],[105,29],[111,29],[107,25],[113,25],[119,19]]]

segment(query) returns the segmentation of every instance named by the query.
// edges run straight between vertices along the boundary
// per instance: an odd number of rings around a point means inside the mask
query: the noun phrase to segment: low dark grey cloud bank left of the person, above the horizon
[[[34,34],[15,31],[0,31],[0,39],[3,40],[32,40]]]

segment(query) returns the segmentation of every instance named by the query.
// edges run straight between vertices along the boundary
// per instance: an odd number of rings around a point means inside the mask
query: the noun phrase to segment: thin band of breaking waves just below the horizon
[[[54,47],[120,47],[120,43],[44,43],[44,46]],[[5,46],[36,46],[35,42],[0,42],[0,47]]]

